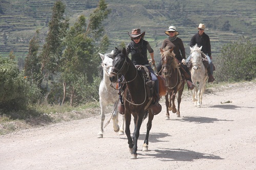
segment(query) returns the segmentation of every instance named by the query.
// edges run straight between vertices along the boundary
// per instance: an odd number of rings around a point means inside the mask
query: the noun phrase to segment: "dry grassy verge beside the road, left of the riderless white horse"
[[[0,135],[20,130],[49,126],[61,122],[97,116],[100,113],[98,102],[79,107],[69,105],[33,105],[27,110],[4,111],[0,109]]]

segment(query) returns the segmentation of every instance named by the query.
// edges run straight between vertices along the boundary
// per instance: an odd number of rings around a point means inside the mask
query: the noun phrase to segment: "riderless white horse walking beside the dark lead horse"
[[[112,69],[112,62],[113,62],[113,55],[114,51],[112,51],[109,54],[100,54],[100,57],[102,59],[102,68],[103,68],[103,79],[100,82],[99,85],[99,103],[100,103],[100,115],[101,115],[101,124],[100,124],[100,131],[97,135],[98,138],[103,137],[103,123],[105,119],[105,112],[106,112],[106,106],[108,105],[114,105],[113,110],[115,109],[112,119],[113,119],[113,128],[115,132],[119,132],[120,135],[124,134],[124,115],[122,116],[122,126],[119,128],[118,125],[118,109],[116,105],[118,104],[118,90],[114,89],[113,87],[110,86],[111,82],[109,79],[109,74]]]

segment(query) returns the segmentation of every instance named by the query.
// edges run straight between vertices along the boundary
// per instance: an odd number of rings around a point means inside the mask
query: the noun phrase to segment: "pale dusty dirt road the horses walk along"
[[[256,169],[256,83],[212,90],[201,108],[184,95],[181,117],[172,114],[171,120],[164,120],[162,100],[150,151],[142,152],[145,121],[136,160],[112,121],[97,138],[97,116],[0,136],[0,169]]]

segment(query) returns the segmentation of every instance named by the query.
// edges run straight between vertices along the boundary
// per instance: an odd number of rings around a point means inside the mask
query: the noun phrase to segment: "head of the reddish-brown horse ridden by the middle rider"
[[[165,48],[160,48],[161,52],[161,64],[162,64],[162,75],[169,76],[170,70],[178,67],[178,63],[175,60],[175,54],[173,48],[166,46]]]

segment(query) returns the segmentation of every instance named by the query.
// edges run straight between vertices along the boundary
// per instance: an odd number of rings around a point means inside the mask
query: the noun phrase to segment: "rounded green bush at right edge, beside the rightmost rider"
[[[250,81],[256,78],[256,46],[249,39],[240,37],[222,47],[215,64],[219,82]]]

